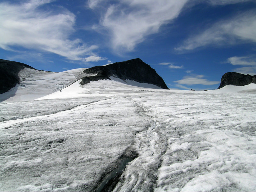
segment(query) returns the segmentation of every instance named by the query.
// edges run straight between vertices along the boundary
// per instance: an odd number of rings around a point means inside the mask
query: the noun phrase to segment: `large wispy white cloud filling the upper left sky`
[[[96,45],[80,39],[70,40],[75,31],[75,15],[66,9],[45,11],[40,6],[52,0],[30,0],[20,4],[0,3],[0,48],[16,51],[14,46],[52,52],[69,60],[92,55]]]

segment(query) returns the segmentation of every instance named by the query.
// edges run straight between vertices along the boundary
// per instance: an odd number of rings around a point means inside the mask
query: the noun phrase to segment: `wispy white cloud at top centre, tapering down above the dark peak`
[[[89,1],[94,8],[100,0]],[[107,29],[111,46],[116,52],[132,51],[147,35],[175,19],[188,0],[116,0],[101,9],[101,27]],[[106,3],[106,2],[105,2]],[[102,14],[102,13],[101,13]]]

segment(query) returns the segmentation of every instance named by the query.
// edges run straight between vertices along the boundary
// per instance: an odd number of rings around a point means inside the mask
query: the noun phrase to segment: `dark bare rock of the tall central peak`
[[[96,66],[84,70],[85,73],[98,73],[107,78],[110,76],[120,79],[129,79],[139,83],[148,83],[157,85],[163,89],[169,89],[162,77],[160,77],[155,69],[151,68],[148,64],[140,59],[132,59],[123,62],[116,62],[106,66]],[[91,76],[92,77],[92,76]],[[94,76],[96,77],[96,76]],[[84,78],[84,77],[83,77]],[[80,84],[86,84],[89,81],[83,81]],[[87,79],[87,78],[86,78]]]

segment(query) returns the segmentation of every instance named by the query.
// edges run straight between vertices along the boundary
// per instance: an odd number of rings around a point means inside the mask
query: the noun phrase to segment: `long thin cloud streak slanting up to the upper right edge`
[[[175,50],[193,50],[208,45],[220,46],[240,42],[256,43],[256,12],[217,22],[201,34],[191,36]]]

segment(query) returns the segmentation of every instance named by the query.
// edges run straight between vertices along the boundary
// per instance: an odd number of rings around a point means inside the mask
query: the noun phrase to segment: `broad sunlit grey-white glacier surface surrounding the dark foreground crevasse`
[[[255,93],[98,83],[0,103],[0,191],[97,191],[128,150],[114,191],[256,191]]]

